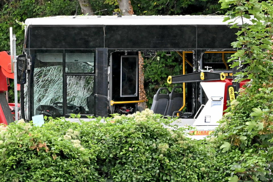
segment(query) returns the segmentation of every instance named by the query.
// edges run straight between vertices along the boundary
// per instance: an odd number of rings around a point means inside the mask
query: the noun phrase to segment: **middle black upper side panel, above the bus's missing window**
[[[105,47],[139,49],[193,49],[196,27],[192,25],[107,25]]]

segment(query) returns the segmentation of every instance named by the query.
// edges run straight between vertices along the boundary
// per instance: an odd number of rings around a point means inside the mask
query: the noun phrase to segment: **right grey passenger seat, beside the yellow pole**
[[[172,116],[174,111],[178,111],[183,105],[183,92],[175,92],[177,88],[183,89],[182,86],[175,86],[170,94],[169,106],[166,115]]]

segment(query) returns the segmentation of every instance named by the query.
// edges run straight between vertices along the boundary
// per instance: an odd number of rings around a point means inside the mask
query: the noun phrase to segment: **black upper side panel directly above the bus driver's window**
[[[92,49],[104,47],[103,27],[31,27],[30,48]]]

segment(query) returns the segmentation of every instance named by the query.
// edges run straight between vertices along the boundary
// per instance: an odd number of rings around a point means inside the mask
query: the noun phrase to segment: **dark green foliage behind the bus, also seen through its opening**
[[[89,0],[95,15],[112,15],[119,7],[115,0]],[[226,10],[220,9],[220,4],[214,0],[132,0],[135,15],[223,15]],[[57,15],[80,15],[80,6],[77,0],[20,0],[0,1],[0,50],[9,50],[9,27],[13,27],[16,34],[17,55],[22,53],[24,30],[20,22],[27,18],[57,16]],[[18,21],[18,22],[16,22]],[[158,53],[160,59],[144,59],[145,91],[147,93],[147,106],[152,104],[153,96],[160,87],[167,86],[171,91],[173,85],[166,83],[167,76],[181,75],[181,59],[178,55],[171,57],[166,53]],[[158,71],[155,71],[158,70]],[[14,100],[13,81],[9,91],[10,102]]]

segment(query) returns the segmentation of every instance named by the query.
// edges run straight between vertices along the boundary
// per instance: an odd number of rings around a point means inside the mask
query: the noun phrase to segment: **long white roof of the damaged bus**
[[[177,15],[177,16],[49,16],[28,18],[29,25],[228,25],[225,16],[219,15]],[[249,19],[244,21],[250,23]],[[241,18],[236,20],[242,24]],[[244,22],[244,23],[245,23]]]

